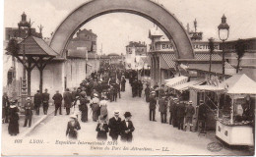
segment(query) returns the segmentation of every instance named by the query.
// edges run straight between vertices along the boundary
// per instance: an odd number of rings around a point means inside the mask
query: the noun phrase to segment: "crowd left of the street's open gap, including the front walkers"
[[[104,66],[98,72],[92,73],[89,78],[85,78],[80,86],[72,91],[66,88],[61,94],[59,90],[52,96],[55,107],[54,116],[62,115],[62,105],[66,110],[66,115],[70,116],[67,125],[66,135],[69,138],[77,139],[78,131],[81,130],[79,123],[79,112],[81,113],[81,122],[89,121],[89,112],[92,113],[92,120],[97,122],[96,138],[106,140],[107,133],[112,140],[117,140],[120,135],[122,141],[132,141],[132,132],[135,130],[131,122],[131,113],[125,112],[124,120],[119,118],[119,112],[114,112],[114,117],[108,119],[107,105],[112,101],[121,98],[121,92],[125,91],[126,78],[125,71],[117,69],[115,66]],[[43,93],[39,90],[32,97],[28,97],[23,106],[25,111],[24,127],[32,126],[32,115],[39,115],[42,106],[43,114],[47,115],[49,107],[50,94],[45,89]],[[3,95],[3,123],[9,123],[8,131],[11,135],[19,133],[19,108],[17,100],[9,101],[7,94]],[[8,109],[8,110],[7,110]]]

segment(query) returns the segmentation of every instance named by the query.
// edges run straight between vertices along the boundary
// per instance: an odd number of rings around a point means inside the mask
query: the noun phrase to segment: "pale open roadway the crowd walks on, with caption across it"
[[[197,132],[179,131],[168,124],[160,123],[160,113],[157,109],[157,121],[149,121],[149,105],[145,102],[144,98],[132,98],[130,84],[126,83],[126,92],[122,93],[121,99],[117,102],[109,103],[108,115],[113,116],[114,110],[119,110],[123,119],[123,114],[126,111],[132,113],[132,121],[134,123],[135,131],[134,141],[129,148],[135,146],[136,148],[150,149],[150,151],[125,151],[116,152],[123,155],[249,155],[244,150],[234,150],[225,148],[219,152],[211,152],[207,149],[207,145],[213,141],[218,141],[215,138],[214,132],[209,132],[207,136],[198,136]],[[65,112],[64,112],[65,113]],[[89,110],[89,122],[81,124],[79,131],[79,140],[83,141],[96,141],[96,122],[92,121],[92,114]],[[43,139],[44,142],[49,143],[43,145],[47,148],[47,152],[41,155],[63,155],[77,152],[78,154],[87,155],[113,155],[113,151],[95,151],[92,147],[70,146],[70,145],[54,145],[56,140],[67,140],[65,131],[69,117],[66,115],[53,116],[50,115],[45,121],[40,123],[29,135],[28,139]],[[108,138],[110,140],[110,138]],[[122,145],[118,140],[119,145]],[[52,145],[53,144],[53,145]],[[126,145],[127,146],[127,145]],[[167,149],[168,151],[162,151]],[[61,149],[56,152],[56,149]],[[89,150],[90,149],[90,150]],[[160,150],[159,150],[160,149]],[[36,154],[40,147],[33,147],[30,149],[30,155]]]

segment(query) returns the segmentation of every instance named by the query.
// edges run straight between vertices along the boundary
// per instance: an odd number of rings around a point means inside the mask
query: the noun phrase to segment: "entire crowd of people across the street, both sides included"
[[[62,104],[66,110],[66,115],[70,115],[70,121],[67,125],[66,135],[70,138],[78,138],[78,131],[81,126],[78,120],[78,115],[81,113],[81,122],[87,123],[89,115],[92,113],[92,120],[97,122],[96,138],[106,140],[107,133],[112,140],[117,140],[121,136],[123,141],[132,141],[132,132],[135,130],[131,122],[131,113],[125,112],[125,119],[122,121],[119,118],[119,112],[115,111],[114,116],[109,119],[107,106],[109,102],[117,101],[121,98],[121,92],[125,91],[126,78],[129,78],[129,83],[132,87],[132,97],[142,96],[142,91],[145,93],[145,100],[149,103],[149,119],[156,122],[156,110],[159,106],[160,122],[162,124],[172,125],[178,130],[192,131],[193,115],[195,108],[192,106],[192,101],[184,101],[168,90],[164,89],[164,85],[156,83],[154,86],[144,84],[138,80],[136,71],[124,71],[115,68],[114,66],[104,66],[98,72],[92,73],[89,78],[85,78],[80,86],[73,88],[71,91],[66,88],[61,94],[58,90],[52,96],[55,107],[54,116],[62,115]],[[42,106],[43,114],[47,115],[49,107],[50,94],[45,89],[43,93],[39,90],[33,96],[26,99],[24,106],[25,123],[24,127],[32,126],[32,115],[39,115],[40,107]],[[3,95],[3,123],[9,123],[9,133],[17,135],[19,133],[19,109],[15,105],[17,101],[10,101],[6,93]],[[8,109],[8,110],[7,110]],[[204,128],[206,121],[206,105],[201,101],[199,105],[198,119]],[[89,114],[90,113],[90,114]],[[169,113],[169,114],[167,114]],[[169,118],[167,119],[169,115]],[[9,121],[9,122],[8,122]]]

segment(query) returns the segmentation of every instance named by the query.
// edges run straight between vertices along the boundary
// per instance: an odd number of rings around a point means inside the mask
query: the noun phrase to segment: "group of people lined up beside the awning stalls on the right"
[[[172,125],[178,130],[192,131],[193,129],[193,116],[195,114],[195,108],[192,105],[192,101],[184,100],[184,97],[173,94],[168,90],[164,90],[164,85],[158,84],[150,87],[147,83],[145,91],[146,102],[149,103],[149,116],[150,121],[157,122],[156,120],[156,110],[159,106],[160,112],[160,122],[162,124]],[[169,111],[169,119],[167,123],[167,111]],[[196,123],[196,128],[200,125],[202,131],[205,131],[205,123],[207,118],[207,106],[202,100],[198,105],[198,121],[200,124]],[[196,129],[195,128],[195,129]]]

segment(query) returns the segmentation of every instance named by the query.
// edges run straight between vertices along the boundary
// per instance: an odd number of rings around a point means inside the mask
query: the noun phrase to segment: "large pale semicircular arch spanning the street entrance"
[[[188,34],[178,20],[159,4],[150,0],[93,0],[75,9],[55,30],[50,46],[62,54],[69,38],[89,21],[108,13],[131,13],[160,26],[173,39],[179,59],[193,59],[194,52]]]

